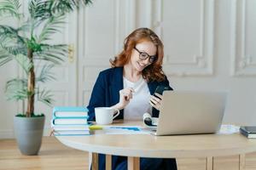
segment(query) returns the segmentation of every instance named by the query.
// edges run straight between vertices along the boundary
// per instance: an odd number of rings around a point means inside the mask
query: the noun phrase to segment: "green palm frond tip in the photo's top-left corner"
[[[22,14],[19,13],[20,10],[20,1],[19,0],[2,0],[0,4],[0,15],[10,14],[11,16],[20,19]]]

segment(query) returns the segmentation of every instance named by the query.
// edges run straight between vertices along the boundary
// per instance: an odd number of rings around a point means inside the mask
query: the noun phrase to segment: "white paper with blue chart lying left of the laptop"
[[[150,134],[139,126],[103,126],[105,134]]]

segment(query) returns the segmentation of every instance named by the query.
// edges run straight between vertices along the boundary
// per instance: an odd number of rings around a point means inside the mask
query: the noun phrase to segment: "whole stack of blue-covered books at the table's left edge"
[[[51,127],[55,136],[88,135],[88,110],[85,107],[54,107]]]

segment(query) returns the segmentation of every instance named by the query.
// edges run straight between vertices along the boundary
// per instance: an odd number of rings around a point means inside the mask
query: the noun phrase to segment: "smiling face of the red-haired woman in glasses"
[[[136,49],[137,48],[137,49]],[[149,57],[147,59],[140,59],[140,53],[146,53],[149,56],[156,55],[157,48],[154,46],[153,42],[140,42],[137,43],[135,48],[132,49],[131,52],[131,66],[133,69],[137,71],[143,71],[144,68],[146,68],[148,65],[151,65],[149,62]]]

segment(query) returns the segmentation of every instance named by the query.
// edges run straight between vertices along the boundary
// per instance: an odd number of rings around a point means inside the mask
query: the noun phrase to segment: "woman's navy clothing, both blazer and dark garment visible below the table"
[[[169,86],[167,78],[162,82],[148,82],[150,94],[154,94],[154,90],[158,85]],[[101,71],[96,79],[96,83],[90,96],[90,103],[87,106],[89,110],[90,121],[95,121],[95,107],[110,107],[119,102],[119,90],[124,88],[123,84],[123,67],[114,67],[105,71]],[[158,117],[159,111],[153,108],[153,116]],[[116,119],[123,119],[124,111],[120,111]],[[99,154],[99,169],[105,169],[105,155]],[[161,158],[141,158],[141,169],[170,169],[176,170],[175,159]],[[112,156],[112,169],[127,169],[127,157]]]

